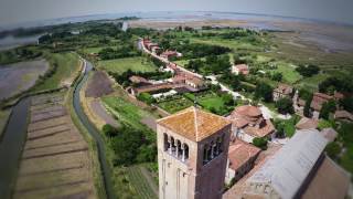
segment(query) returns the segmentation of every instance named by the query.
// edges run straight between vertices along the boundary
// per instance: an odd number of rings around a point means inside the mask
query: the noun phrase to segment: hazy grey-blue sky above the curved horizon
[[[353,23],[353,0],[0,0],[0,25],[132,11],[232,11]]]

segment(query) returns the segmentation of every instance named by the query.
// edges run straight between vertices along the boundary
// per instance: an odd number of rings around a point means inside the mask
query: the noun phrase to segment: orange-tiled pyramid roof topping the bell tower
[[[161,118],[157,123],[193,142],[200,142],[231,125],[228,119],[194,106]]]

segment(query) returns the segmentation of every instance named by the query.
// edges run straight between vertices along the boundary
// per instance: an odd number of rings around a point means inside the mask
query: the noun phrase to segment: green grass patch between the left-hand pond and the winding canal
[[[53,76],[44,80],[34,91],[53,90],[60,87],[65,81],[73,80],[79,70],[78,56],[74,53],[49,54],[47,61],[51,66],[57,64],[57,70]]]

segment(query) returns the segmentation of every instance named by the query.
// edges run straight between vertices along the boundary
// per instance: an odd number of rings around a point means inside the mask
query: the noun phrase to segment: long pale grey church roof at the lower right
[[[270,184],[281,198],[293,198],[321,156],[328,140],[317,129],[297,130],[247,184]]]

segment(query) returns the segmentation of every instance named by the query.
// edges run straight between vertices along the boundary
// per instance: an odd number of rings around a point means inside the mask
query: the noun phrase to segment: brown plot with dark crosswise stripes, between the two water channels
[[[96,198],[87,143],[63,93],[32,98],[13,198]]]

